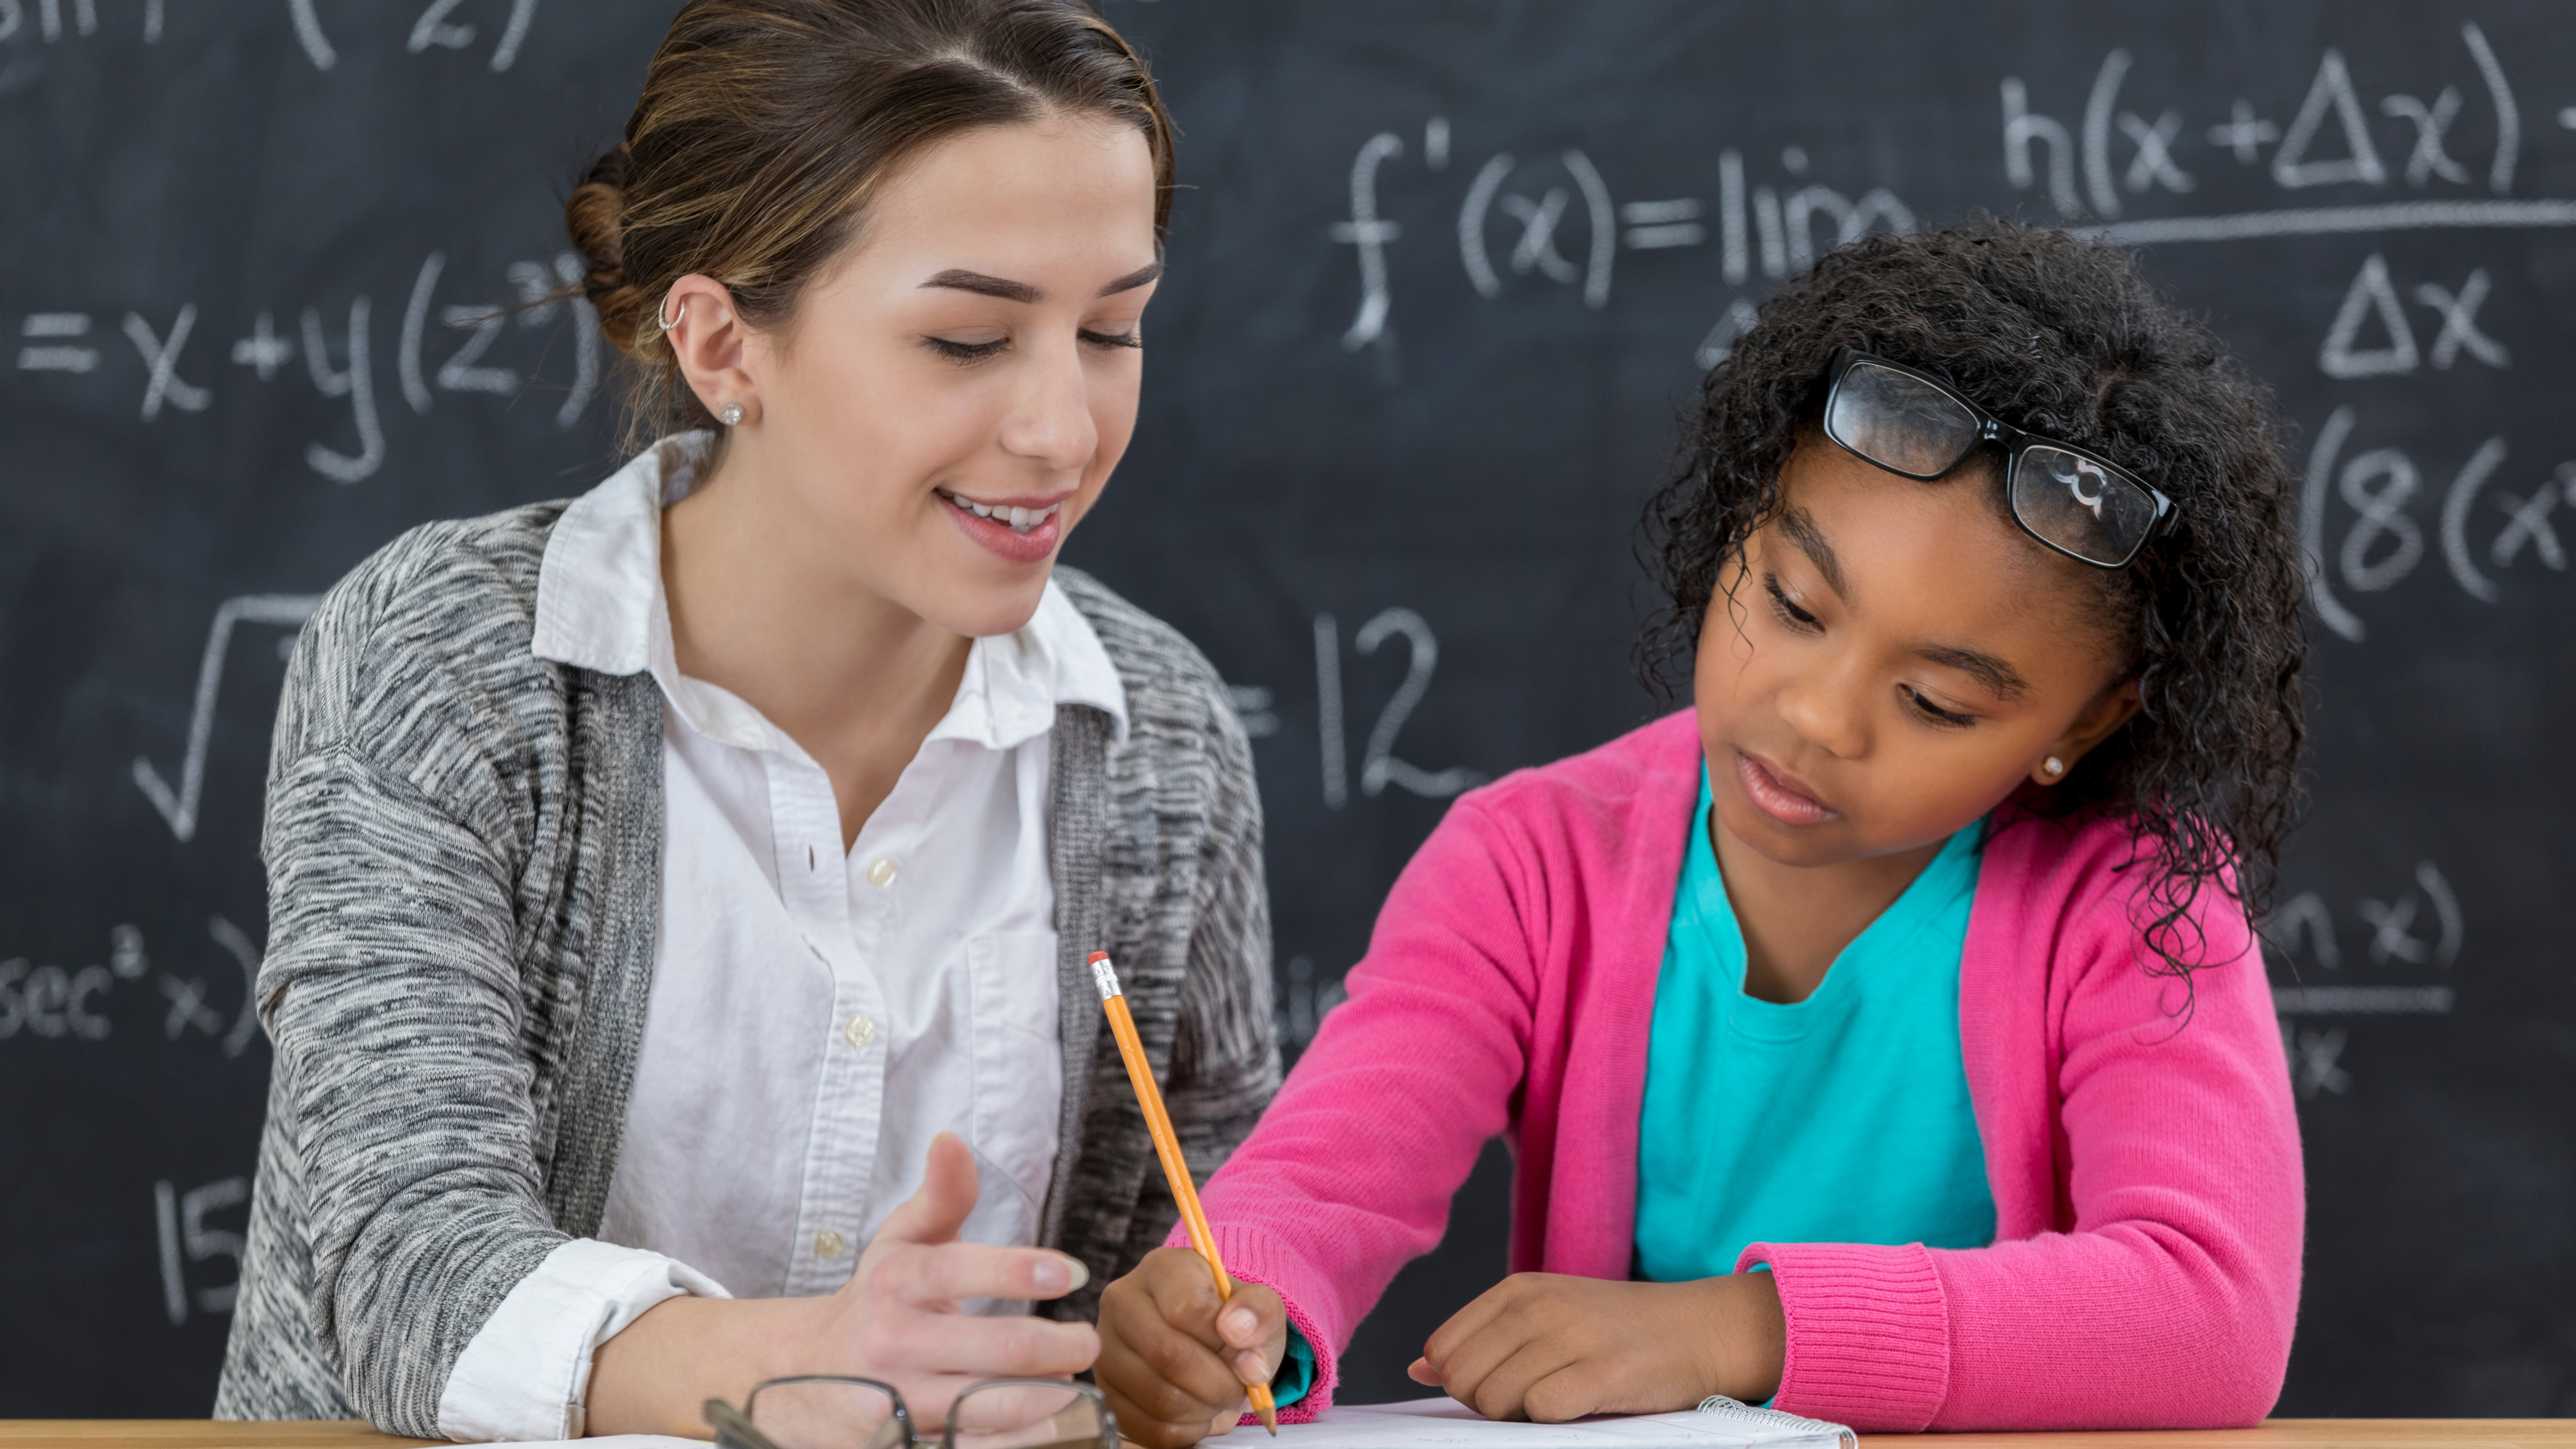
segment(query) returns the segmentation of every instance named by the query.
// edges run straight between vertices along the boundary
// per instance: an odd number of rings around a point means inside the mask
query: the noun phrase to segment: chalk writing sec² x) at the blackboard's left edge
[[[260,1031],[260,949],[222,915],[206,923],[206,933],[229,967],[219,975],[237,975],[242,982],[232,1011],[216,1011],[214,998],[232,993],[216,993],[204,975],[155,969],[142,928],[124,923],[108,931],[106,962],[85,967],[36,964],[28,957],[0,962],[0,1042],[106,1042],[116,1034],[116,1003],[134,995],[165,1042],[209,1039],[224,1057],[240,1057]],[[149,993],[139,990],[144,982],[152,982]]]

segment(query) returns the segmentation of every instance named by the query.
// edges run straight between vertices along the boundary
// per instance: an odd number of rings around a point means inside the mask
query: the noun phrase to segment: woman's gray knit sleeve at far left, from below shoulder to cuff
[[[456,1356],[567,1240],[538,1186],[510,877],[446,804],[325,745],[270,781],[268,895],[260,1016],[312,1333],[358,1413],[435,1436]]]

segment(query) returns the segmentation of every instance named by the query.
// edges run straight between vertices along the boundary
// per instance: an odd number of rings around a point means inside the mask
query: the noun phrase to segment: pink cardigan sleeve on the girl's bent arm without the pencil
[[[2102,884],[2007,946],[2056,954],[2056,1230],[1749,1245],[1739,1269],[1767,1261],[1788,1318],[1780,1408],[1862,1431],[2221,1428],[2280,1397],[2306,1201],[2254,931],[2205,890],[2184,998]]]

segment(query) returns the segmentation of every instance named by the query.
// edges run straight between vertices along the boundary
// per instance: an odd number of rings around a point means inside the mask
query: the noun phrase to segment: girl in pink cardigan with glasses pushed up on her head
[[[1167,1248],[1103,1297],[1123,1431],[1327,1405],[1494,1134],[1515,1276],[1412,1364],[1492,1418],[2262,1418],[2303,1209],[2249,926],[2300,745],[2267,389],[2110,245],[1870,237],[1710,371],[1649,523],[1695,706],[1458,799],[1208,1183],[1257,1287],[1218,1318]]]

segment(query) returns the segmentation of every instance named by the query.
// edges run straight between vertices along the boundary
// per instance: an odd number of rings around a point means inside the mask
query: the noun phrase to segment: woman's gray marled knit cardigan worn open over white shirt
[[[562,503],[430,523],[296,645],[260,853],[276,1044],[216,1418],[435,1436],[466,1341],[600,1227],[652,990],[662,696],[538,660]],[[1126,683],[1128,737],[1061,706],[1048,866],[1064,1119],[1041,1240],[1097,1292],[1172,1227],[1084,957],[1110,951],[1193,1171],[1278,1091],[1252,753],[1208,663],[1056,570]]]

